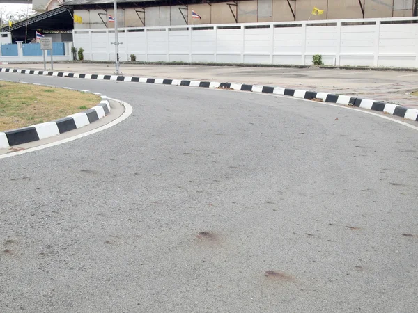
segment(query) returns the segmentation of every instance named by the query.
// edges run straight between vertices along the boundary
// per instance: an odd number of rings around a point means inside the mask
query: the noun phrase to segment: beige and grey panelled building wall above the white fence
[[[291,6],[289,6],[289,3]],[[252,0],[237,4],[212,3],[193,6],[156,6],[118,10],[119,27],[169,26],[184,24],[229,24],[252,22],[287,22],[307,19],[359,19],[362,17],[411,17],[414,0]],[[362,3],[362,5],[360,5]],[[311,15],[316,6],[322,15]],[[192,10],[201,19],[192,19]],[[114,28],[107,15],[114,10],[75,10],[83,24],[75,29]],[[295,17],[293,17],[295,14]],[[363,16],[364,15],[364,16]]]

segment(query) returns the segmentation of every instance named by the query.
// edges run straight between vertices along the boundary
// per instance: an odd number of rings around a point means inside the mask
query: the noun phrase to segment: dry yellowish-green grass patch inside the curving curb
[[[64,118],[99,102],[100,97],[90,93],[3,81],[0,84],[0,131]]]

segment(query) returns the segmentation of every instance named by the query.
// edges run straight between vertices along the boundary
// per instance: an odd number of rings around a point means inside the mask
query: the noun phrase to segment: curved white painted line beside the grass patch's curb
[[[38,147],[32,147],[32,148],[29,148],[27,150],[11,152],[11,153],[8,153],[8,154],[3,154],[3,155],[0,155],[0,159],[5,159],[5,158],[8,158],[8,157],[14,157],[16,155],[25,154],[25,153],[33,152],[33,151],[38,151],[38,150],[46,149],[47,147],[54,147],[55,145],[61,145],[63,143],[68,143],[70,141],[75,141],[79,138],[83,138],[83,137],[86,137],[86,136],[89,136],[89,135],[93,135],[95,133],[98,133],[99,131],[103,131],[104,129],[108,129],[108,128],[116,125],[116,124],[119,124],[123,120],[126,120],[127,118],[129,118],[129,116],[132,114],[132,106],[130,106],[130,104],[127,104],[126,102],[123,102],[123,101],[117,100],[117,99],[112,99],[112,98],[109,98],[109,99],[111,99],[113,101],[116,101],[116,102],[119,102],[119,103],[123,104],[123,106],[125,106],[125,112],[123,112],[123,114],[121,116],[116,118],[116,120],[112,120],[111,122],[109,122],[109,124],[100,126],[98,128],[95,128],[95,129],[92,129],[91,131],[86,131],[85,133],[79,134],[77,136],[73,136],[73,137],[70,137],[70,138],[65,138],[61,141],[56,141],[54,143],[47,143],[46,145],[39,145]]]

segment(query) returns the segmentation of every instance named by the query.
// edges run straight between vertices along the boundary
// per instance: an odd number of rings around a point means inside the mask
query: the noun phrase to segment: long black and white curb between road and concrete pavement
[[[291,88],[281,88],[272,86],[247,85],[241,83],[217,83],[215,81],[189,81],[179,79],[153,79],[146,77],[131,77],[121,75],[100,75],[100,74],[81,74],[71,72],[48,72],[39,70],[21,70],[13,68],[1,68],[0,72],[13,72],[21,74],[35,74],[54,77],[74,77],[81,79],[103,79],[109,81],[130,81],[138,83],[157,83],[162,85],[173,86],[191,86],[203,88],[227,88],[233,90],[252,91],[254,93],[270,93],[275,95],[286,95],[302,99],[318,99],[322,102],[330,102],[343,104],[347,106],[357,106],[362,109],[379,111],[387,114],[406,118],[408,120],[418,121],[418,109],[410,109],[399,104],[380,102],[372,99],[364,99],[360,97],[351,97],[348,95],[334,95],[332,93],[321,93],[309,90],[299,90]]]

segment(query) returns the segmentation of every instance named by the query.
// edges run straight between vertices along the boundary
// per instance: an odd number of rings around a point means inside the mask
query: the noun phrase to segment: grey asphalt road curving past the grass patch
[[[417,312],[417,131],[286,97],[0,78],[134,109],[0,159],[1,312]]]

